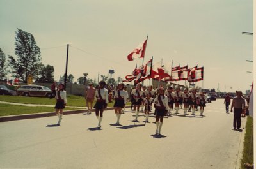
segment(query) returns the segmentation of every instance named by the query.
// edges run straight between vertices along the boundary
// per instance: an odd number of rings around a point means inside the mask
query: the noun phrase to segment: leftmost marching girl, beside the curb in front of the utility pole
[[[65,105],[67,105],[67,94],[66,94],[66,91],[64,91],[63,84],[59,84],[58,91],[55,98],[57,102],[54,108],[55,108],[56,115],[58,116],[58,119],[59,119],[56,125],[60,126],[62,115],[63,115],[63,109],[65,108]]]

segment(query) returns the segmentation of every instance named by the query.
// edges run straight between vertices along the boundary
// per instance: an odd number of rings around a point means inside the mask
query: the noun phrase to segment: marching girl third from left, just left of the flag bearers
[[[116,114],[116,124],[119,124],[119,120],[122,114],[122,108],[124,108],[127,101],[127,93],[124,91],[124,84],[118,84],[118,89],[114,95],[115,104],[115,114]]]

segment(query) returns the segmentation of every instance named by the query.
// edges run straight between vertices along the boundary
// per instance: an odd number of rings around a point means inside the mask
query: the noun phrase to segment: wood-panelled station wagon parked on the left
[[[22,85],[17,89],[17,95],[51,97],[51,89],[42,85]]]

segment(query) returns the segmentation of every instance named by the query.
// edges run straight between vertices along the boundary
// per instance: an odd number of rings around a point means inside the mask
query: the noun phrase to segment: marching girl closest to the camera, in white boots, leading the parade
[[[163,118],[169,110],[168,98],[164,96],[164,88],[159,88],[159,94],[154,99],[154,107],[156,108],[156,135],[161,135],[161,128],[163,126]],[[160,122],[159,122],[160,120]]]

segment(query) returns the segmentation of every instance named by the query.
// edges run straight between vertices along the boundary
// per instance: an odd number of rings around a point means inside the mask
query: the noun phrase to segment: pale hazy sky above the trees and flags
[[[0,48],[15,57],[17,28],[33,34],[54,78],[125,78],[142,59],[127,55],[147,38],[147,62],[204,66],[198,87],[250,89],[253,81],[253,0],[0,0]],[[179,82],[184,84],[183,81]],[[203,86],[204,85],[204,86]]]

